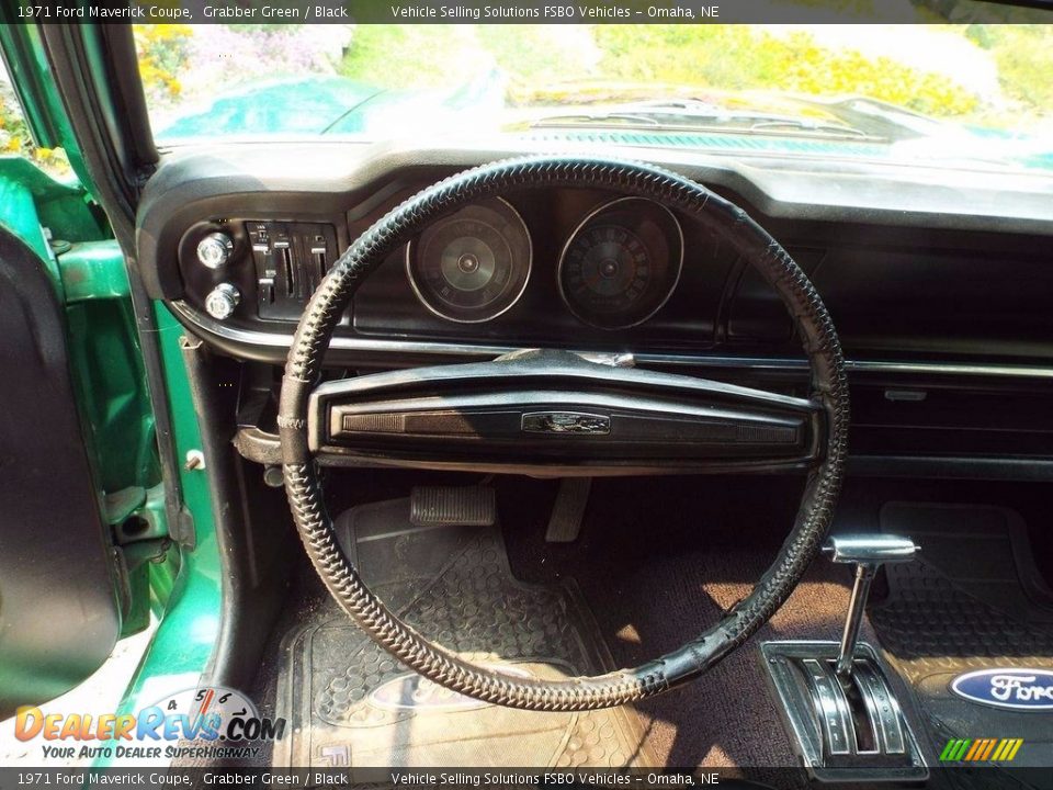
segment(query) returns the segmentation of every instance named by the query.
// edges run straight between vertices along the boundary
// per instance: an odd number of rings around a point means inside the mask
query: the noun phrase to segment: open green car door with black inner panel
[[[88,678],[150,618],[168,552],[121,249],[59,150],[30,35],[0,35],[0,719]],[[68,157],[67,157],[68,154]]]

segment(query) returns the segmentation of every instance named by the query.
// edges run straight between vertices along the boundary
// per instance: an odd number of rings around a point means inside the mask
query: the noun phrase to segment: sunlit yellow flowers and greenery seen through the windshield
[[[460,105],[475,121],[491,121],[496,111],[647,98],[630,86],[656,97],[673,86],[859,95],[1031,134],[1049,129],[1053,110],[1053,82],[1037,79],[1053,74],[1053,29],[1045,25],[213,24],[140,25],[136,36],[161,137],[172,119],[212,102],[217,84],[237,92],[305,76],[363,87],[354,104],[381,91],[388,102],[414,92],[435,101],[488,91],[488,102]],[[178,126],[170,131],[183,136]]]

